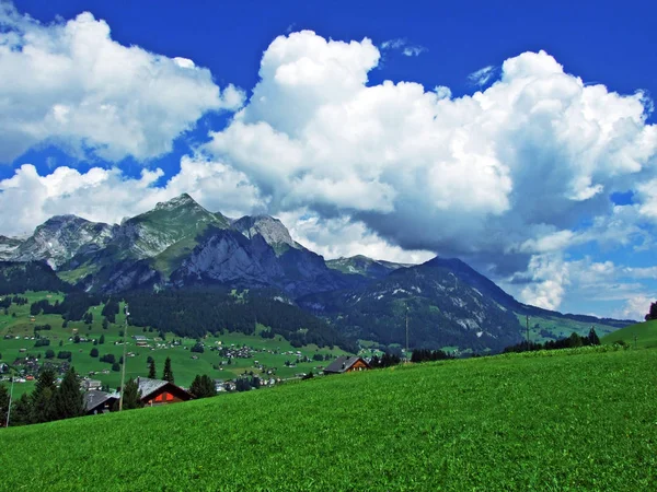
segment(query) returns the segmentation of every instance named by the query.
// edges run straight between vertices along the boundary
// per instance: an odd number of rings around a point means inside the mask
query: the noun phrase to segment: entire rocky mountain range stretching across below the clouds
[[[383,347],[406,343],[406,315],[411,348],[474,351],[518,343],[528,316],[539,341],[583,335],[591,325],[603,336],[629,324],[521,304],[454,258],[416,266],[360,255],[325,261],[295,242],[278,219],[231,221],[187,194],[120,224],[54,216],[27,239],[2,237],[0,246],[0,258],[45,261],[59,279],[90,293],[266,292],[327,320],[348,340]]]

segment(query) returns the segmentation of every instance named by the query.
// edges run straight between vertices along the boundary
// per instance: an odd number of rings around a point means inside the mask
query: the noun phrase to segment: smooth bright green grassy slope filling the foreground
[[[5,429],[2,487],[656,490],[656,364],[500,355]]]

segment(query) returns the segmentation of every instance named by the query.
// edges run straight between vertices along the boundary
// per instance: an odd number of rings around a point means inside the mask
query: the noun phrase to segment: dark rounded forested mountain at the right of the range
[[[515,313],[460,280],[451,265],[458,263],[400,268],[364,288],[307,296],[300,304],[341,332],[382,344],[405,344],[406,315],[411,348],[502,350],[520,341]]]

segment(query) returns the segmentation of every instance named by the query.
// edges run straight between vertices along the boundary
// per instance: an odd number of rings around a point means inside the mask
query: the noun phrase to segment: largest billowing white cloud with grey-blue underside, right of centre
[[[609,195],[655,174],[645,95],[585,85],[544,51],[505,60],[489,87],[456,98],[369,85],[379,61],[367,38],[276,38],[253,96],[205,151],[247,174],[274,213],[349,216],[404,249],[493,262],[498,276],[531,261],[543,271],[540,255],[596,241],[583,219],[602,231],[616,213]],[[560,295],[539,297],[556,306]]]

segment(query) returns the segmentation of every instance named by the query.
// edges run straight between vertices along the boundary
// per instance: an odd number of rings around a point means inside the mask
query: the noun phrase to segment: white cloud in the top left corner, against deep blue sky
[[[0,162],[43,142],[110,161],[155,157],[203,114],[243,98],[187,58],[120,45],[89,12],[44,25],[0,4]]]

